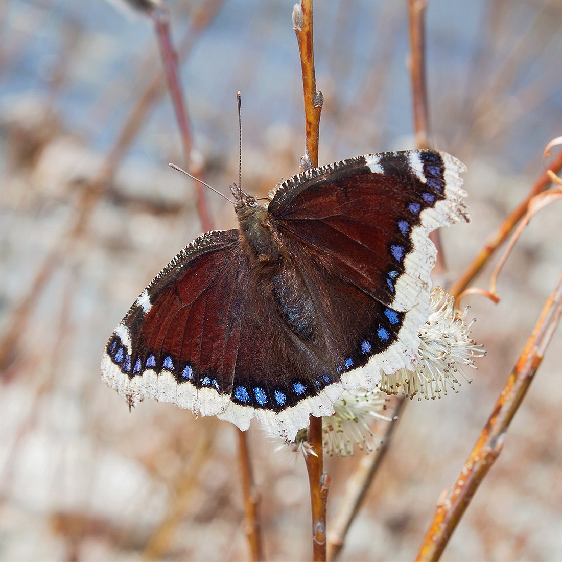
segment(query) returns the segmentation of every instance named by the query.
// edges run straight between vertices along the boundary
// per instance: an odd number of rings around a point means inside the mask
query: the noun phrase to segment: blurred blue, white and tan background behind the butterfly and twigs
[[[247,191],[298,171],[292,4],[167,3],[196,161],[223,192],[238,178],[237,90]],[[562,6],[427,4],[432,142],[469,170],[472,223],[443,233],[454,280],[562,134]],[[0,559],[245,560],[234,427],[156,402],[129,413],[99,379],[115,325],[201,233],[193,185],[167,166],[184,162],[151,22],[120,8],[0,2]],[[325,0],[314,18],[320,163],[414,147],[406,2]],[[232,228],[228,203],[206,197]],[[547,207],[506,264],[499,305],[467,299],[488,357],[458,394],[407,405],[342,560],[414,558],[554,287],[560,235]],[[559,331],[445,559],[562,559],[561,350]],[[249,437],[266,556],[308,560],[302,458],[255,425]],[[328,524],[361,455],[327,460]]]

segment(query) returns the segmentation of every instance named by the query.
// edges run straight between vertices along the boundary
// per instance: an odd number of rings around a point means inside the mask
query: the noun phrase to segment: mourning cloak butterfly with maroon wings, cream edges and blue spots
[[[293,176],[269,204],[234,185],[239,229],[207,232],[140,294],[101,371],[143,398],[293,439],[344,388],[415,368],[436,248],[468,220],[445,152],[357,156]]]

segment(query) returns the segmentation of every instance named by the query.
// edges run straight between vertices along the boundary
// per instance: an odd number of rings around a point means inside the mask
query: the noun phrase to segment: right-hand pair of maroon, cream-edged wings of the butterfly
[[[436,249],[429,233],[467,219],[464,170],[443,152],[387,152],[307,171],[275,193],[269,212],[295,248],[297,269],[310,271],[310,257],[299,256],[315,255],[332,285],[339,283],[318,321],[338,334],[327,345],[339,357],[344,387],[372,388],[381,370],[414,368],[419,326],[430,312]],[[351,304],[334,309],[344,291],[355,291]]]

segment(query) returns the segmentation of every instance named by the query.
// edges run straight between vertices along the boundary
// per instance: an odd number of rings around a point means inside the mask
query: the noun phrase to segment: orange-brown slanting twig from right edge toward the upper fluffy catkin
[[[525,197],[520,205],[512,211],[509,216],[507,216],[500,226],[498,226],[496,232],[492,233],[488,237],[482,250],[478,252],[477,256],[474,260],[472,260],[460,278],[451,285],[448,292],[452,296],[457,298],[459,294],[468,287],[468,284],[478,275],[484,265],[487,264],[488,260],[495,253],[497,248],[506,241],[516,224],[527,212],[529,201],[531,201],[538,193],[541,193],[550,187],[552,180],[549,176],[549,170],[552,171],[552,173],[557,174],[560,169],[562,169],[562,152],[560,152],[560,154],[555,158],[554,162],[552,162],[549,166],[549,169],[541,174],[541,177],[537,180],[537,183],[533,185],[533,189],[529,192],[527,197]]]

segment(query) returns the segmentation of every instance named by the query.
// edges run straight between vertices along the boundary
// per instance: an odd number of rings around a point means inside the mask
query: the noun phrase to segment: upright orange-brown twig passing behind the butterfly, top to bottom
[[[314,71],[314,41],[312,35],[312,0],[301,0],[293,7],[293,29],[297,35],[301,57],[302,91],[305,98],[305,155],[300,170],[318,166],[318,140],[322,93],[316,90]],[[315,562],[326,560],[326,506],[329,476],[324,473],[322,418],[310,416],[308,441],[311,454],[305,456],[309,473],[310,502],[312,508],[312,558]]]

